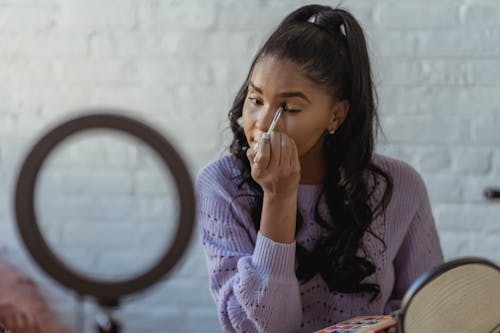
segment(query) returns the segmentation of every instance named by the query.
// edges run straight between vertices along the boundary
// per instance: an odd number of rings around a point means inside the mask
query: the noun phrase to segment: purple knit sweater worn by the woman
[[[380,296],[330,292],[316,275],[304,284],[295,276],[295,243],[260,234],[250,217],[247,187],[237,161],[225,156],[200,171],[196,184],[197,218],[207,259],[210,288],[225,332],[313,332],[357,315],[399,308],[411,283],[443,260],[425,185],[407,164],[376,155],[374,162],[394,181],[392,199],[364,244],[376,273],[365,282],[380,285]],[[303,226],[296,242],[314,248],[323,230],[314,220],[321,185],[299,185]],[[380,195],[382,189],[376,194]],[[320,211],[326,203],[321,199]],[[361,254],[361,252],[360,252]]]

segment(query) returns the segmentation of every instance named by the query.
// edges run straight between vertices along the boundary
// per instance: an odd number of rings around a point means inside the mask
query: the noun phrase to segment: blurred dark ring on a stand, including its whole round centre
[[[157,131],[125,116],[90,114],[35,144],[18,177],[16,215],[46,273],[113,305],[180,259],[194,193],[182,159]]]

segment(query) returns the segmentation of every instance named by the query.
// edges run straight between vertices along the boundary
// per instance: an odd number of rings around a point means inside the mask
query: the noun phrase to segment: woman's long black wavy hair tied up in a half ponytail
[[[233,132],[230,152],[240,162],[242,181],[248,184],[255,200],[252,219],[260,227],[263,192],[250,175],[246,157],[249,145],[240,125],[248,81],[255,64],[264,56],[291,60],[301,66],[309,79],[331,92],[334,100],[348,100],[347,117],[337,131],[325,138],[326,177],[323,191],[331,219],[324,219],[316,204],[316,221],[327,230],[313,251],[297,243],[296,275],[301,283],[316,274],[330,291],[380,293],[377,283],[363,280],[376,267],[364,251],[363,235],[374,234],[370,225],[384,212],[392,195],[392,178],[372,161],[378,118],[375,91],[363,31],[347,11],[321,5],[304,6],[288,15],[255,56],[247,80],[243,83],[229,120]],[[375,198],[377,184],[385,184],[383,194]],[[297,212],[296,232],[302,226]],[[365,253],[358,255],[358,250]]]

